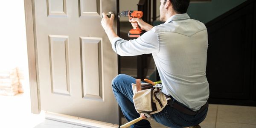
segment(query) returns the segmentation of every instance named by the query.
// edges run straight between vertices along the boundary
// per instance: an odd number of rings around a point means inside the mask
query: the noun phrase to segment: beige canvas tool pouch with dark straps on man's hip
[[[132,84],[133,88],[133,102],[138,113],[158,113],[167,105],[166,97],[161,90],[154,88],[141,90],[140,79],[136,80],[136,84]]]

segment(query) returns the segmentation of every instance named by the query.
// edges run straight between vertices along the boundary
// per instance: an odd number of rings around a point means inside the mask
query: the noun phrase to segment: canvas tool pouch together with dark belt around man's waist
[[[132,84],[134,106],[138,113],[144,113],[150,116],[150,114],[162,111],[166,105],[170,105],[172,108],[180,112],[194,116],[197,113],[201,113],[208,107],[207,101],[200,110],[192,111],[177,102],[173,102],[172,97],[162,93],[160,88],[146,85],[147,83],[141,83],[140,79],[136,80],[136,84]]]

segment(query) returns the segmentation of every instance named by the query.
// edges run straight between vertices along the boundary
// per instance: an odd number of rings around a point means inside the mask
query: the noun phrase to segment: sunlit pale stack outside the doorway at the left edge
[[[22,93],[19,76],[23,79],[23,75],[17,67],[0,70],[0,95],[14,96],[17,93]]]

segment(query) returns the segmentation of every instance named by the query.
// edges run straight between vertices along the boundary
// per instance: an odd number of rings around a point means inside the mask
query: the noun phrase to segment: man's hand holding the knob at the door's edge
[[[105,30],[105,32],[108,32],[110,29],[113,29],[113,22],[114,22],[114,14],[111,14],[111,17],[108,18],[108,16],[103,12],[102,13],[103,18],[102,18],[102,27]]]

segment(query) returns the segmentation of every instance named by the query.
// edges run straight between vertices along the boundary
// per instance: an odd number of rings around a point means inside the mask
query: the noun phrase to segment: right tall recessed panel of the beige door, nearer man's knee
[[[102,38],[81,37],[81,56],[83,98],[103,102]]]

